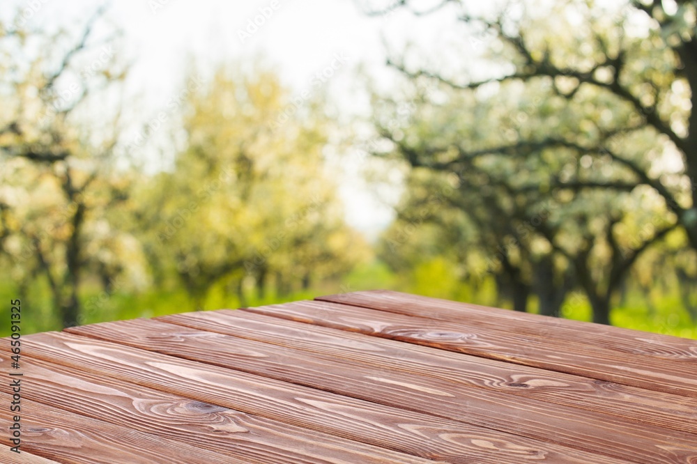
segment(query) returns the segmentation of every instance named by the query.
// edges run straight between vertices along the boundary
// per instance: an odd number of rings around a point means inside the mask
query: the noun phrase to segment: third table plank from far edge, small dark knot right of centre
[[[246,311],[197,311],[162,316],[158,320],[304,350],[330,359],[346,359],[376,369],[389,366],[389,369],[440,378],[463,387],[493,389],[697,434],[697,400],[685,396],[597,382]]]

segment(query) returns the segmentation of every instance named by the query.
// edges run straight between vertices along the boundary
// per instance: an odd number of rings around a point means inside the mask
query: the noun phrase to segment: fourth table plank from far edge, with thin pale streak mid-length
[[[124,320],[71,331],[585,451],[599,450],[602,444],[604,453],[635,462],[642,462],[636,461],[640,449],[647,463],[676,454],[697,458],[697,435],[494,390],[461,387],[395,371],[387,365],[376,369],[346,360],[337,362],[330,356],[279,350],[268,343],[155,320]],[[666,447],[672,448],[670,453]]]

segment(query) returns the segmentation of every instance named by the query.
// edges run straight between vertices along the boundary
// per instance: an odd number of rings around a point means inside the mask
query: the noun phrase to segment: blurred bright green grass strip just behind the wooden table
[[[387,288],[449,300],[496,306],[495,286],[491,279],[479,288],[461,284],[454,265],[442,258],[418,266],[411,272],[395,275],[383,263],[370,263],[356,268],[341,282],[328,282],[307,291],[277,295],[268,291],[266,297],[257,298],[253,289],[247,291],[247,306],[261,306],[297,300],[312,299],[318,295]],[[9,284],[0,285],[0,318],[7,321],[0,325],[0,337],[10,332],[10,300],[17,297]],[[650,309],[641,295],[629,295],[627,304],[615,307],[611,314],[613,325],[647,332],[697,339],[697,326],[691,322],[680,300],[673,295],[657,299]],[[98,290],[83,295],[84,323],[100,323],[109,320],[151,318],[165,314],[194,310],[194,304],[183,291],[146,291],[142,293],[114,293],[106,295]],[[566,318],[590,320],[590,305],[583,297],[576,296],[565,304],[562,314]],[[94,304],[89,304],[93,302]],[[238,308],[242,306],[236,295],[225,293],[222,287],[214,288],[208,295],[205,309]],[[505,306],[505,304],[503,304]],[[537,311],[537,302],[530,300],[530,311]],[[38,285],[31,289],[28,300],[22,301],[22,334],[60,330],[60,323],[52,310],[48,289]]]

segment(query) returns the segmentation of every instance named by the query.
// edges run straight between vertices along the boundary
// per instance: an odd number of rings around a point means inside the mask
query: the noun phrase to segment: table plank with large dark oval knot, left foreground
[[[8,356],[0,352],[0,358]],[[22,371],[31,383],[22,401],[29,399],[176,442],[202,446],[246,463],[420,462],[396,451],[66,369],[40,359],[24,359]],[[0,383],[0,391],[9,393],[9,385]]]

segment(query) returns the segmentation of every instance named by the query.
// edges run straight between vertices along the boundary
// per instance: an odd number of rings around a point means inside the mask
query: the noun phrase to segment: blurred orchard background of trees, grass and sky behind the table
[[[697,1],[232,3],[3,1],[3,319],[389,288],[697,338]]]

